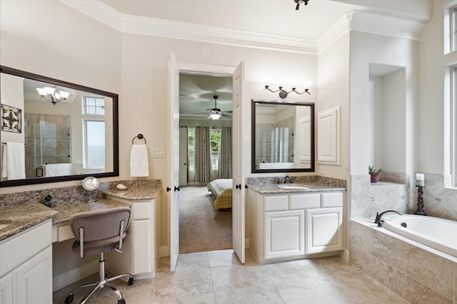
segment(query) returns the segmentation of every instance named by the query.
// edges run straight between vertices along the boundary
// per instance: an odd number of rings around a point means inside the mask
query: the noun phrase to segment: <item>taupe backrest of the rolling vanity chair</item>
[[[130,223],[129,207],[86,211],[74,214],[69,220],[71,232],[76,241],[81,241],[81,228],[84,229],[84,242],[102,242],[110,239],[121,241],[126,236]],[[121,233],[121,222],[124,221]],[[122,237],[121,237],[122,235]],[[82,253],[82,251],[81,251]]]

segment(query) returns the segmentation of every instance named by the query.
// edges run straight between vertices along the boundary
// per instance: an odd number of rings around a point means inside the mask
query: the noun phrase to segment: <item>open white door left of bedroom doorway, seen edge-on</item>
[[[174,53],[169,61],[169,186],[170,268],[179,257],[179,68]]]

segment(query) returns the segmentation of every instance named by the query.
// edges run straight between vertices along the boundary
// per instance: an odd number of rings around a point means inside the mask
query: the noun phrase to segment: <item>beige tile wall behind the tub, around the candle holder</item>
[[[371,184],[370,176],[352,176],[351,218],[376,216],[376,212],[394,209],[406,214],[417,210],[416,174],[386,172],[381,182]],[[457,220],[457,190],[444,188],[440,174],[425,174],[423,204],[429,216]]]

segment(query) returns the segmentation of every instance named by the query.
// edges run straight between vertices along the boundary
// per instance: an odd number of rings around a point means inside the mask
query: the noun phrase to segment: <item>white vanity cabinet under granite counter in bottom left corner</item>
[[[0,303],[52,303],[51,220],[0,242]]]

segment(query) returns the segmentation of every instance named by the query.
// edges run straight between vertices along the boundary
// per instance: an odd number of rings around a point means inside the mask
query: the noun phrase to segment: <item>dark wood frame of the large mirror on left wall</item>
[[[119,176],[119,95],[115,93],[106,92],[104,90],[97,90],[94,88],[89,88],[84,85],[76,85],[74,83],[68,83],[63,80],[57,80],[54,78],[49,78],[43,75],[36,75],[34,73],[25,72],[23,70],[16,70],[14,68],[7,68],[0,65],[0,73],[6,73],[10,75],[16,75],[23,78],[29,78],[33,80],[42,81],[44,83],[51,83],[54,85],[63,86],[66,88],[71,88],[75,90],[81,90],[87,93],[93,93],[96,95],[103,95],[113,100],[113,171],[112,172],[102,172],[102,173],[91,173],[91,174],[75,174],[75,175],[65,175],[58,177],[39,177],[39,178],[29,178],[29,179],[13,179],[7,181],[1,181],[0,187],[13,187],[13,186],[23,186],[29,184],[44,184],[51,182],[65,182],[71,180],[84,179],[85,177],[117,177]],[[0,100],[1,103],[1,100]]]

